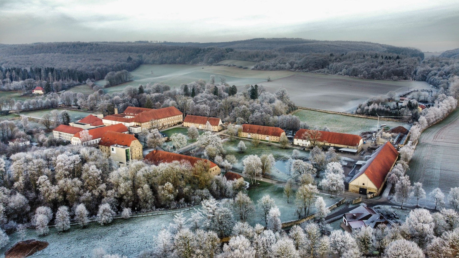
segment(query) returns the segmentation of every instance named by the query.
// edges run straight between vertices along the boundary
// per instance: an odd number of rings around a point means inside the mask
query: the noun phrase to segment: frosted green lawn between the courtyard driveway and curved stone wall
[[[247,180],[247,179],[246,179]],[[274,199],[275,204],[279,208],[280,211],[280,221],[285,222],[289,220],[298,219],[298,215],[295,214],[297,211],[297,206],[295,205],[295,194],[290,197],[289,203],[287,203],[287,197],[284,196],[284,187],[281,185],[274,185],[270,183],[270,180],[263,179],[266,181],[259,181],[260,185],[257,187],[251,187],[249,189],[249,196],[252,201],[256,204],[257,200],[261,199],[264,195],[269,194],[271,198]],[[339,201],[340,198],[330,198],[330,195],[320,194],[324,198],[325,203],[327,206],[334,204],[335,202]],[[309,210],[309,214],[315,213],[315,208],[311,206]],[[258,211],[251,216],[251,220],[249,221],[252,225],[260,223],[264,225],[264,221],[262,221]]]

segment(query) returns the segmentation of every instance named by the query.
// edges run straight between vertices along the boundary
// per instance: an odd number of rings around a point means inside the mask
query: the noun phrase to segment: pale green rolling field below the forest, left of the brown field
[[[224,62],[224,61],[222,61]],[[233,63],[233,62],[229,62]],[[237,65],[237,64],[236,64]],[[153,73],[151,73],[153,72]],[[278,79],[290,76],[296,72],[290,71],[257,71],[228,66],[195,66],[195,65],[141,65],[131,72],[134,81],[104,89],[105,92],[122,91],[126,86],[138,87],[140,84],[164,83],[171,86],[180,86],[199,79],[209,81],[211,75],[224,76],[229,85],[256,84],[266,81],[268,77]],[[103,86],[104,80],[95,84]]]

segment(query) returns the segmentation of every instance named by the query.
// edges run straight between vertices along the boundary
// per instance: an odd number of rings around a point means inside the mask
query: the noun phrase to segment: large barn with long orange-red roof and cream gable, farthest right
[[[349,191],[358,194],[378,196],[386,183],[387,174],[398,158],[398,151],[391,143],[379,147],[349,181]]]

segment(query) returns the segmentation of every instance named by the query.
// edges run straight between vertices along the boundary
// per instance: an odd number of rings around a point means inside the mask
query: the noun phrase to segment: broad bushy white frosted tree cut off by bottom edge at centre
[[[255,258],[255,249],[244,236],[233,236],[224,244],[219,258]]]

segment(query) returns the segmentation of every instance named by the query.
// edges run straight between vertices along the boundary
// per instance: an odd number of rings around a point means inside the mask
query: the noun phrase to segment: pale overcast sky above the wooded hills
[[[0,43],[251,38],[459,47],[459,0],[0,0]]]

